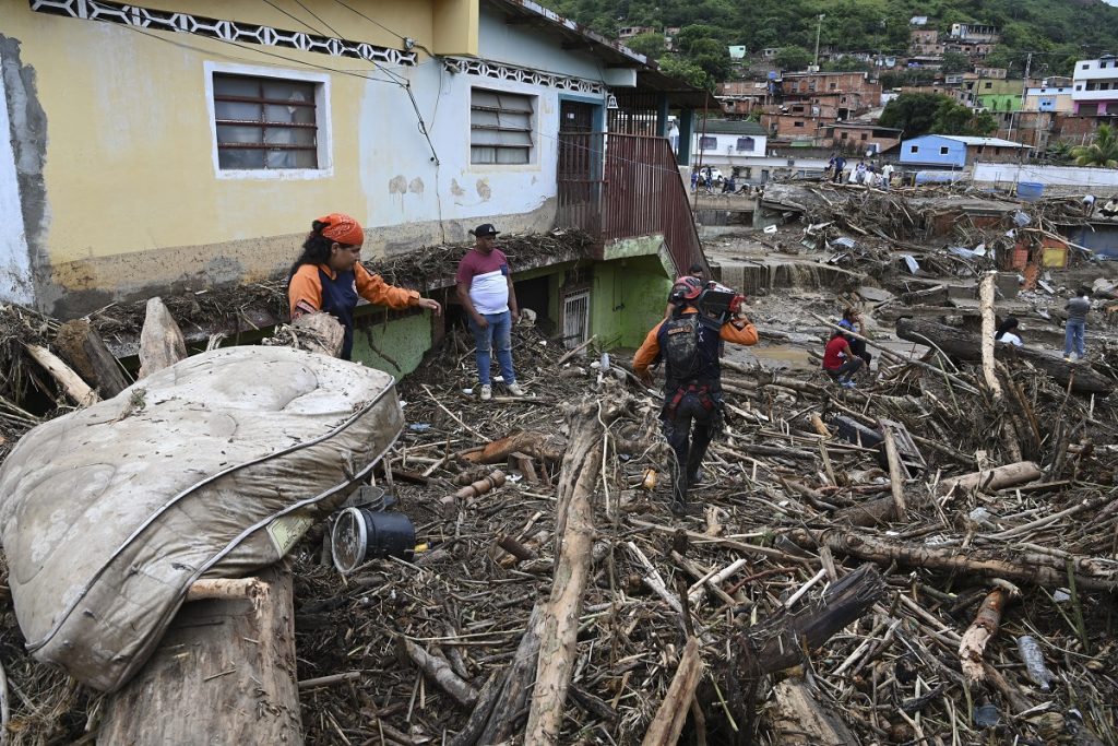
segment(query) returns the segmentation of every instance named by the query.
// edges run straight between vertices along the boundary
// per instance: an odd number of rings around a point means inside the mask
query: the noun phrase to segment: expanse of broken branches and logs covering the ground
[[[882,319],[979,314],[950,285],[993,255],[915,243],[928,214],[903,196],[843,209],[865,232],[851,266],[884,290],[841,298]],[[958,229],[973,251],[1008,228]],[[899,278],[898,246],[930,284]],[[49,321],[23,323],[49,343]],[[811,323],[780,333],[827,333]],[[1118,743],[1118,348],[1092,341],[1093,393],[998,356],[999,398],[980,355],[870,341],[888,352],[853,390],[728,359],[703,514],[681,519],[660,397],[619,356],[599,372],[593,341],[570,356],[518,327],[530,396],[483,404],[452,331],[400,383],[411,426],[377,478],[424,550],[341,575],[320,527],[294,554],[306,743]],[[30,663],[3,598],[12,743],[92,739],[98,702]]]

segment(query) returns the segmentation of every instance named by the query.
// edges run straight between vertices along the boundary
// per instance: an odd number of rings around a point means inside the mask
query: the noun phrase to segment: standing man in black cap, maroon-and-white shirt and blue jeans
[[[496,347],[496,361],[501,366],[504,387],[513,396],[524,396],[512,369],[512,320],[520,315],[517,290],[512,285],[509,259],[496,247],[498,229],[483,223],[470,232],[474,247],[458,263],[458,301],[470,314],[470,330],[477,347],[477,377],[482,385],[482,400],[493,398],[490,378],[490,350]]]

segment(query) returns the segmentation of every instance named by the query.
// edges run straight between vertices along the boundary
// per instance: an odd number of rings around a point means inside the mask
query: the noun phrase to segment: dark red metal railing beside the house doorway
[[[662,234],[676,274],[707,266],[686,189],[664,138],[560,133],[556,225],[606,242]]]

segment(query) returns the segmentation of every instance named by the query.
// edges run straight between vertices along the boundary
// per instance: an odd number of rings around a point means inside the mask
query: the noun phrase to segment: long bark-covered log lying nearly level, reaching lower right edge
[[[797,546],[815,549],[830,547],[832,551],[859,559],[869,559],[879,565],[893,563],[909,567],[969,573],[983,577],[1004,577],[1048,587],[1060,587],[1068,582],[1068,573],[1062,557],[1040,553],[1015,553],[1014,561],[1003,559],[1005,551],[968,547],[946,547],[937,549],[922,545],[908,546],[887,539],[861,536],[841,530],[814,531],[795,529],[787,536]],[[1091,557],[1073,556],[1076,583],[1092,591],[1118,589],[1118,570],[1109,563],[1100,563]]]

